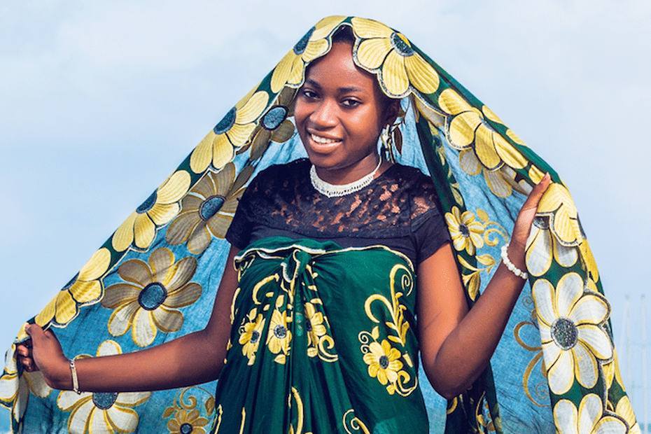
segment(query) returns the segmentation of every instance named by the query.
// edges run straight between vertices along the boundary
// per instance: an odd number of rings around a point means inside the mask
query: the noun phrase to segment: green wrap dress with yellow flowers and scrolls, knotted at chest
[[[428,432],[405,255],[272,237],[235,262],[215,433]]]

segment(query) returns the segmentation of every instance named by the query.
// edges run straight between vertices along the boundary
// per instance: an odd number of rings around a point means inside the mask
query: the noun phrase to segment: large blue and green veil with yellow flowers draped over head
[[[69,357],[135,351],[203,328],[239,197],[261,169],[304,156],[293,99],[307,64],[328,52],[341,26],[352,28],[356,64],[402,99],[383,149],[432,177],[470,304],[527,193],[552,174],[528,239],[528,284],[491,365],[447,405],[421,372],[430,432],[640,433],[619,376],[610,304],[567,188],[495,113],[373,20],[332,16],[309,29],[29,322],[57,328]],[[26,338],[20,330],[18,341]],[[0,377],[14,432],[205,433],[214,419],[214,384],[58,392],[39,372],[21,372],[14,351]]]

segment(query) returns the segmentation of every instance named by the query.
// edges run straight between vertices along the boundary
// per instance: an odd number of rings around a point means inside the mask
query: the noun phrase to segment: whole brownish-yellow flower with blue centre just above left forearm
[[[102,298],[102,306],[115,309],[109,318],[111,335],[122,336],[131,328],[134,342],[147,346],[157,329],[178,331],[183,325],[178,308],[193,304],[202,293],[198,283],[188,283],[196,269],[195,258],[174,263],[174,253],[165,247],[153,251],[149,263],[131,259],[120,265],[125,283],[109,286]]]

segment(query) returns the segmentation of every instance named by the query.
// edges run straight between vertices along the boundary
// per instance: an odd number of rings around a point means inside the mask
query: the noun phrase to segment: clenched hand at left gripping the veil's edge
[[[52,388],[66,386],[66,379],[70,377],[69,360],[54,332],[43,331],[37,324],[25,325],[25,331],[31,339],[17,345],[18,363],[27,372],[41,370],[45,383]]]

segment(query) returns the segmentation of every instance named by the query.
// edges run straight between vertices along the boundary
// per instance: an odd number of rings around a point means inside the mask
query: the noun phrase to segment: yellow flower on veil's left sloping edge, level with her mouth
[[[269,94],[260,90],[248,95],[226,113],[222,120],[204,137],[190,156],[190,169],[201,173],[212,163],[221,169],[235,157],[235,150],[250,139],[255,120],[267,108]]]

